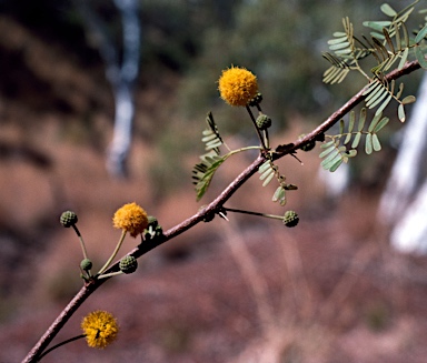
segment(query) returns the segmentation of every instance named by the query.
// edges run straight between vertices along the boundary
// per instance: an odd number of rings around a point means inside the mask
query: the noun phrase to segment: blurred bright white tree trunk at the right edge
[[[379,204],[391,226],[390,243],[410,253],[427,252],[427,73],[405,125],[403,142]]]

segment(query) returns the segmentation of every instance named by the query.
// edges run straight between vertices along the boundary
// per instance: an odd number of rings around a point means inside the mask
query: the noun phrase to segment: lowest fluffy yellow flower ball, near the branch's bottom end
[[[95,311],[83,317],[81,329],[90,347],[103,349],[112,343],[119,325],[116,317],[107,311]]]

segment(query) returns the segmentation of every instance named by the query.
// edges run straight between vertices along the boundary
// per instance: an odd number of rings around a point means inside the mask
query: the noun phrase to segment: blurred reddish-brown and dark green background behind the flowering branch
[[[346,16],[368,34],[361,22],[384,19],[381,3],[0,1],[0,362],[21,361],[82,284],[62,211],[77,212],[96,266],[120,236],[111,218],[122,204],[136,201],[163,230],[191,216],[255,157],[231,159],[196,202],[207,112],[230,147],[256,142],[245,110],[219,99],[221,70],[258,77],[272,145],[292,142],[364,85],[324,84],[321,52]],[[414,29],[424,21],[414,19]],[[418,94],[421,77],[405,79],[405,94]],[[394,224],[378,212],[401,139],[395,109],[387,115],[383,151],[335,178],[320,171],[318,147],[298,153],[304,165],[278,162],[299,186],[286,206],[297,228],[235,214],[197,225],[106,283],[54,340],[101,309],[119,320],[117,342],[73,342],[43,361],[425,362],[427,260],[390,246]],[[274,191],[254,177],[227,206],[282,214]],[[127,239],[122,253],[137,244]]]

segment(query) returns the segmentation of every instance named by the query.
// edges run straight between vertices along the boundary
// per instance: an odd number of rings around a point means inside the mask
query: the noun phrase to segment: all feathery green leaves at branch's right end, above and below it
[[[380,10],[386,16],[386,20],[363,23],[371,30],[370,38],[356,37],[352,23],[345,18],[342,20],[344,31],[335,32],[334,38],[328,41],[330,52],[325,52],[322,56],[331,63],[331,67],[325,71],[324,82],[340,83],[351,71],[358,72],[368,82],[363,92],[365,107],[376,109],[376,111],[367,130],[364,130],[367,112],[363,108],[356,131],[354,129],[356,117],[351,111],[346,132],[344,131],[345,121],[341,120],[339,133],[326,135],[320,153],[320,158],[324,159],[321,165],[325,169],[335,171],[342,162],[348,162],[350,158],[356,157],[363,135],[366,137],[365,152],[367,154],[381,149],[377,132],[388,123],[388,118],[381,118],[381,114],[390,101],[397,102],[398,119],[405,122],[405,105],[415,102],[416,98],[414,95],[401,98],[404,83],[396,87],[395,80],[389,82],[386,74],[395,69],[400,70],[409,57],[415,58],[421,68],[427,69],[425,58],[427,54],[427,21],[420,26],[419,30],[415,30],[414,34],[410,34],[406,27],[406,21],[418,2],[419,0],[414,1],[401,11],[396,11],[389,4],[384,3]],[[420,12],[426,13],[426,10]],[[367,59],[375,62],[369,71],[365,69]],[[342,138],[344,140],[341,140]],[[352,142],[349,143],[351,140]]]

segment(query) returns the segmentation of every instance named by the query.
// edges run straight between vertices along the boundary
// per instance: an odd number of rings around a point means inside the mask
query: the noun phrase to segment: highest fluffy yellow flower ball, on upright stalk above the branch
[[[258,93],[257,78],[245,68],[224,70],[218,83],[221,98],[231,105],[247,105]]]

